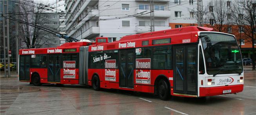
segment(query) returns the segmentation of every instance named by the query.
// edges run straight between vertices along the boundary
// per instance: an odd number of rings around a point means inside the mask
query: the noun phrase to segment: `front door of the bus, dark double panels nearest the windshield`
[[[174,46],[174,94],[197,95],[197,45]]]

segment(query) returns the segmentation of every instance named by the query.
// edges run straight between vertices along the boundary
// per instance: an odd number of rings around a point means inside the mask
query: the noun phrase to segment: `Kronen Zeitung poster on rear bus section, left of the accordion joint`
[[[76,78],[76,61],[63,61],[63,78]]]

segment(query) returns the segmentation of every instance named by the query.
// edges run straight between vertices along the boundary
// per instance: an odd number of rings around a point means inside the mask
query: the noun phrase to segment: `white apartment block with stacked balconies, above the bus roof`
[[[169,0],[66,0],[66,33],[76,39],[123,36],[151,31],[150,4],[154,4],[154,30],[171,29]]]

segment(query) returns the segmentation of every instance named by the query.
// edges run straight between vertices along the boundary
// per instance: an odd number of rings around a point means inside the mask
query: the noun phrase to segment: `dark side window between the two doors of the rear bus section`
[[[46,68],[47,57],[46,55],[36,55],[34,58],[31,58],[31,68]]]

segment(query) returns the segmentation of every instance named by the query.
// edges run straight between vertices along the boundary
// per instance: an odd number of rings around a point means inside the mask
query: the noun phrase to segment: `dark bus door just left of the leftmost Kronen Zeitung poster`
[[[48,55],[48,82],[60,82],[60,54]]]

